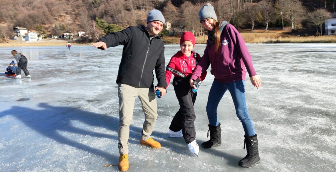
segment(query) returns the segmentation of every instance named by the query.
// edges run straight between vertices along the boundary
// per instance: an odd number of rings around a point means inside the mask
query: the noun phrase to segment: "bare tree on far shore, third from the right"
[[[268,23],[276,19],[276,11],[272,0],[262,0],[258,3],[260,5],[260,14],[262,22],[266,24],[266,31],[268,30]]]

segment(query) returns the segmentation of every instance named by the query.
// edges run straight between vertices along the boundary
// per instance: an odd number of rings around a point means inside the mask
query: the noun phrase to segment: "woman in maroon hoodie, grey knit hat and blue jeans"
[[[257,134],[252,120],[247,112],[245,98],[245,67],[249,73],[252,84],[258,89],[261,79],[256,74],[252,57],[245,42],[236,28],[227,21],[218,22],[214,8],[205,4],[199,12],[202,25],[208,30],[208,41],[199,64],[196,66],[190,85],[201,76],[211,65],[211,74],[215,76],[212,83],[206,107],[209,119],[210,140],[201,147],[208,149],[221,145],[220,123],[217,116],[217,107],[224,93],[228,90],[233,99],[236,114],[242,122],[244,135],[244,149],[246,144],[247,155],[239,161],[242,167],[252,167],[260,162],[258,153]]]

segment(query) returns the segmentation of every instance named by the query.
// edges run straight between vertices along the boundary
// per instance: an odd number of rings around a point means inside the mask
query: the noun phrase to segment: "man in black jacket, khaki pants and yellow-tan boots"
[[[166,68],[164,43],[158,35],[165,23],[159,10],[152,10],[147,16],[147,26],[130,26],[123,31],[100,38],[92,47],[106,50],[108,47],[124,45],[119,65],[117,84],[119,97],[119,165],[121,171],[128,170],[129,126],[132,123],[135,97],[138,96],[145,121],[141,131],[140,144],[160,148],[151,134],[158,117],[155,91],[166,94]],[[158,85],[154,89],[153,70]]]

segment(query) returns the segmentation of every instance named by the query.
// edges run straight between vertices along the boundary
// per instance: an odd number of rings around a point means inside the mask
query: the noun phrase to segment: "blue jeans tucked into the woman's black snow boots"
[[[243,124],[245,135],[255,135],[252,120],[247,112],[244,81],[230,83],[212,82],[207,103],[207,115],[211,126],[218,126],[217,108],[226,90],[229,90],[233,103],[235,104],[236,114]]]

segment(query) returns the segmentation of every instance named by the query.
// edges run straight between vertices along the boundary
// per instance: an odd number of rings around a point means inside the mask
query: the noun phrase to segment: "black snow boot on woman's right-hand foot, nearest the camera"
[[[255,164],[260,163],[259,152],[258,152],[258,139],[257,134],[252,136],[244,135],[244,149],[246,144],[247,155],[245,158],[238,162],[239,166],[249,168]]]

